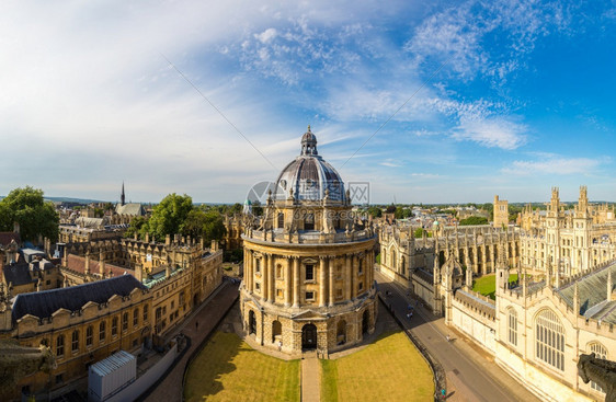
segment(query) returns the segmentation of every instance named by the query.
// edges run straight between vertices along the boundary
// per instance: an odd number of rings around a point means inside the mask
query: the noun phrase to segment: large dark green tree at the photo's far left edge
[[[34,242],[38,236],[58,241],[59,221],[54,204],[45,203],[38,188],[15,188],[0,202],[0,231],[12,231],[16,222],[24,241]]]

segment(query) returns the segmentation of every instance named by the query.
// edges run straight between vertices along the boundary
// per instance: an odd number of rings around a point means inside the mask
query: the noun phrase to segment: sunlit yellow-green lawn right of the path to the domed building
[[[335,360],[321,360],[321,401],[433,401],[427,363],[403,332]]]

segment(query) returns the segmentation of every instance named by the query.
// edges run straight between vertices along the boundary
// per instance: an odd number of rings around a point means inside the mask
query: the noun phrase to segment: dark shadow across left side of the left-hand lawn
[[[189,368],[184,400],[203,401],[221,392],[221,378],[237,369],[231,361],[241,351],[242,340],[235,333],[216,332]]]

